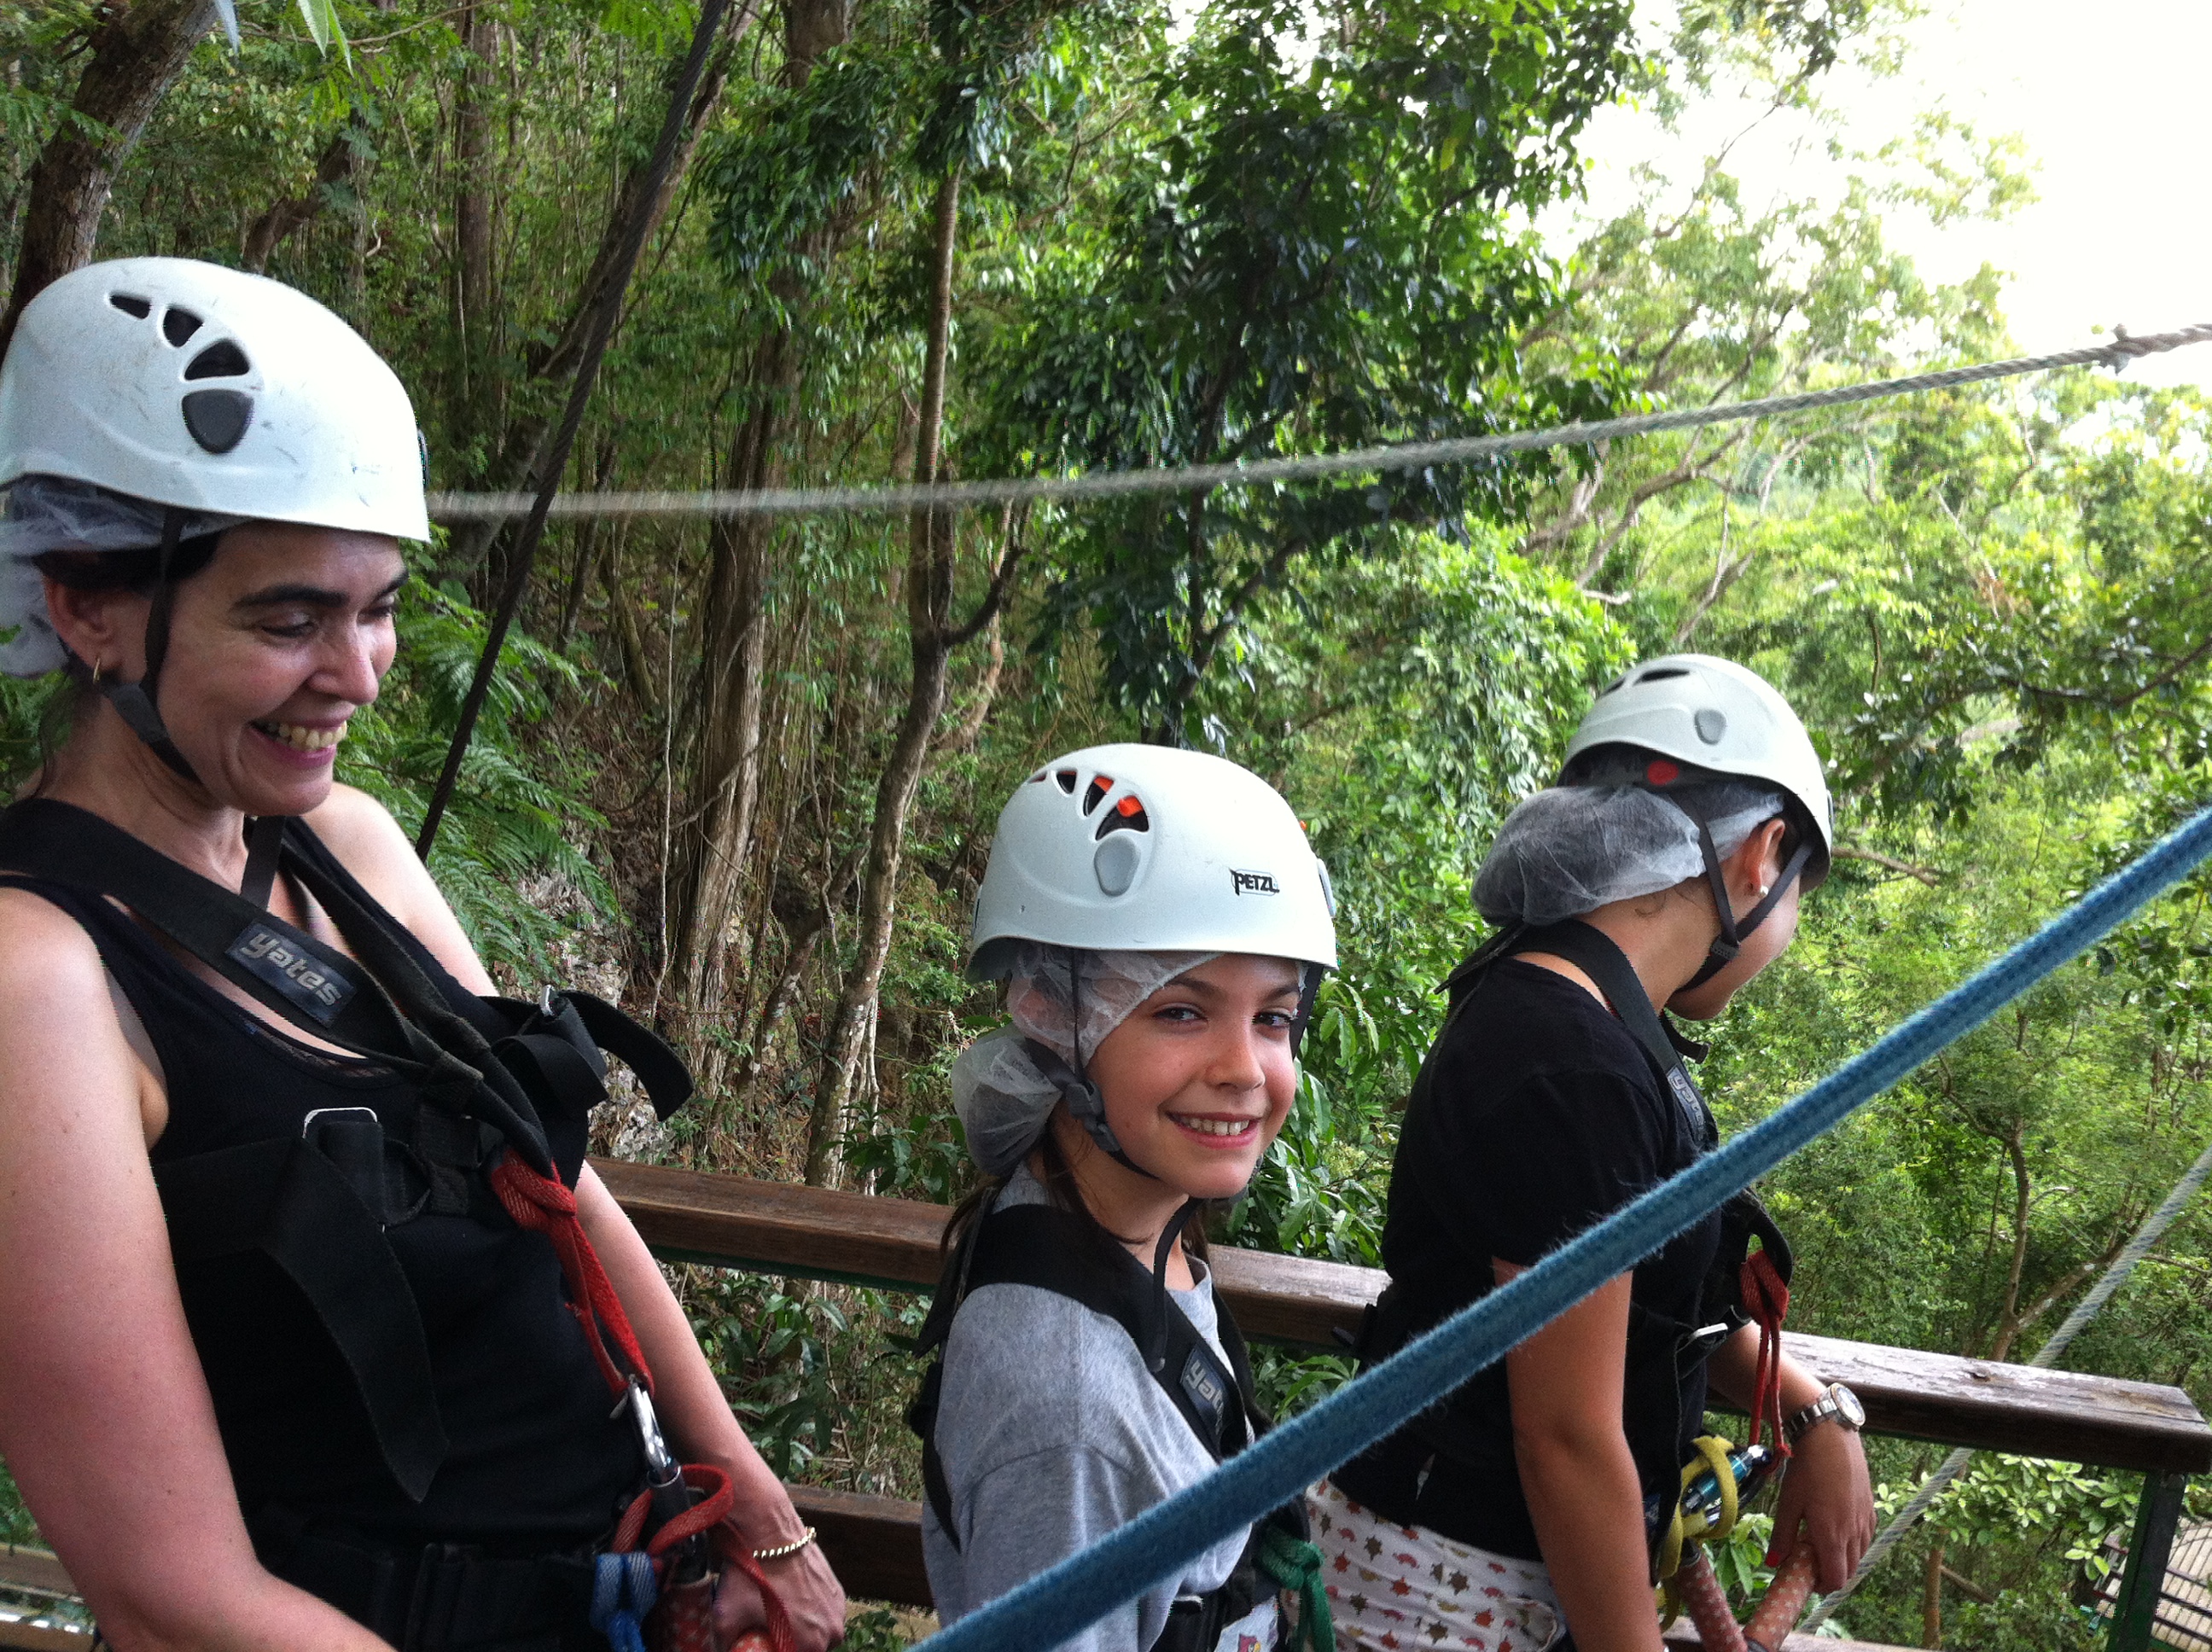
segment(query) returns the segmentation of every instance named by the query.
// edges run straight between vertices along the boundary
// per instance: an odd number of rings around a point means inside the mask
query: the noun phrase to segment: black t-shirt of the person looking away
[[[1717,1141],[1703,1104],[1677,1099],[1582,984],[1509,958],[1471,991],[1429,1057],[1391,1168],[1383,1263],[1407,1331],[1486,1296],[1493,1258],[1540,1261]],[[1635,1269],[1624,1429],[1646,1495],[1677,1482],[1703,1413],[1703,1367],[1677,1378],[1674,1345],[1699,1322],[1719,1230],[1710,1216]],[[1336,1482],[1400,1524],[1542,1559],[1502,1362]]]

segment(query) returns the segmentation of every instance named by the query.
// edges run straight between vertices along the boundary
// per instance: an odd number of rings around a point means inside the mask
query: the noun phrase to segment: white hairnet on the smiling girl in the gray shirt
[[[1006,980],[1013,1026],[987,1033],[953,1062],[953,1112],[967,1130],[969,1157],[987,1177],[1004,1177],[1037,1146],[1060,1086],[1037,1070],[1029,1039],[1062,1062],[1088,1062],[1152,993],[1219,953],[1104,953],[1066,947],[1015,947]],[[1071,986],[1068,964],[1075,964]]]

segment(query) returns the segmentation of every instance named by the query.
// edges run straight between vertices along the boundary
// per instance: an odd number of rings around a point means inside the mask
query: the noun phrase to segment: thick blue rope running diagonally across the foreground
[[[1626,1274],[1683,1227],[1719,1210],[2132,918],[2208,856],[2212,809],[2192,816],[2141,860],[2106,878],[2079,905],[1772,1117],[1575,1236],[1513,1283],[1407,1342],[1394,1358],[1252,1449],[1239,1451],[1206,1480],[933,1634],[927,1645],[933,1652],[1033,1652],[1097,1623],[1121,1601],[1172,1577],[1188,1555],[1245,1530],[1270,1508],[1298,1497],[1321,1475],[1398,1429],[1405,1418],[1502,1360],[1506,1349],[1544,1329],[1606,1280]]]

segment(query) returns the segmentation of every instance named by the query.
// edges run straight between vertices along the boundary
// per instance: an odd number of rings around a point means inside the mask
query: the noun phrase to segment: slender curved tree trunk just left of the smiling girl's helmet
[[[960,168],[938,184],[931,245],[929,349],[922,360],[922,409],[914,447],[914,480],[936,482],[945,438],[945,363],[953,318],[953,252],[960,232]],[[922,787],[929,741],[945,714],[951,677],[953,524],[949,509],[920,509],[907,544],[907,637],[914,677],[898,739],[876,783],[876,820],[869,829],[867,869],[860,880],[860,924],[852,966],[830,1024],[830,1048],[814,1088],[807,1119],[807,1183],[834,1188],[843,1177],[843,1141],[849,1130],[854,1077],[876,1024],[876,989],[891,955],[891,918],[898,905],[898,869],[907,838],[907,814]]]

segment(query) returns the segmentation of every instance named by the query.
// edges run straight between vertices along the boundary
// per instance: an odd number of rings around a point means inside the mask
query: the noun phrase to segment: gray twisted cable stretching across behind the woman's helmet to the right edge
[[[1652,431],[1699,429],[1703,425],[1739,425],[1750,418],[1807,414],[1818,407],[1847,407],[1891,396],[1920,396],[1931,389],[1980,385],[1991,378],[2046,374],[2057,367],[2110,367],[2124,372],[2130,360],[2159,356],[2168,349],[2212,341],[2212,323],[2154,332],[2139,338],[2124,327],[2112,343],[2088,349],[2062,349],[2055,356],[2017,360],[1984,360],[1971,367],[1944,367],[1909,378],[1880,378],[1867,385],[1838,385],[1798,396],[1767,396],[1756,402],[1719,402],[1714,407],[1677,407],[1666,414],[1599,418],[1582,425],[1553,425],[1506,436],[1455,436],[1442,442],[1398,442],[1389,447],[1356,447],[1347,453],[1307,453],[1298,458],[1252,460],[1248,464],[1183,464],[1177,469],[1099,471],[1093,475],[1013,475],[984,482],[927,482],[894,487],[787,487],[787,489],[706,489],[695,493],[562,493],[546,515],[805,515],[814,511],[916,511],[945,504],[1022,504],[1037,500],[1108,500],[1146,493],[1190,493],[1217,487],[1261,487],[1263,482],[1298,482],[1314,475],[1347,475],[1358,471],[1425,471],[1431,464],[1467,464],[1502,453],[1535,453],[1546,447],[1582,447]],[[529,515],[535,493],[431,493],[429,513],[438,522],[504,522]]]

